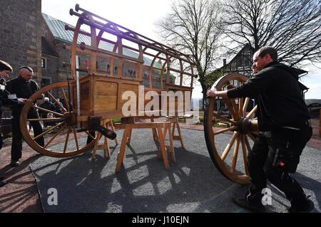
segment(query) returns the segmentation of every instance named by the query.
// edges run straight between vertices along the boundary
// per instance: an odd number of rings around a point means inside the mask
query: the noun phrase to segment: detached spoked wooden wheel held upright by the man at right
[[[212,89],[227,90],[233,88],[233,84],[240,85],[246,80],[248,78],[240,74],[225,75],[213,85]],[[218,97],[209,99],[208,107],[205,109],[204,132],[208,152],[215,167],[223,176],[240,184],[248,184],[247,156],[248,152],[251,152],[251,143],[258,132],[258,121],[255,118],[258,107],[249,109],[249,97],[223,99],[224,105],[228,107],[228,114],[220,115],[214,108],[215,102],[219,100]],[[213,120],[219,122],[221,128],[215,127],[214,130]],[[229,137],[228,144],[218,144],[217,141],[223,137]]]

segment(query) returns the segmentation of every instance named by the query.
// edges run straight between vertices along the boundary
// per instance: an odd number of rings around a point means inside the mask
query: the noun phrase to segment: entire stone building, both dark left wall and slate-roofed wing
[[[67,23],[55,19],[52,16],[41,13],[41,0],[1,0],[0,14],[0,59],[10,63],[14,68],[9,80],[16,78],[19,68],[28,65],[34,69],[34,80],[40,87],[66,81],[70,77],[70,69],[63,68],[63,63],[70,63],[71,53],[63,48],[63,45],[71,45],[73,33],[65,30]],[[68,25],[74,27],[72,25]],[[78,41],[90,45],[88,36],[80,35]],[[102,42],[103,48],[112,51],[113,45]],[[138,58],[137,53],[124,49],[124,54],[133,58]],[[79,56],[80,64],[86,65],[86,60],[90,62],[90,56]],[[100,62],[103,62],[101,63]],[[136,65],[124,63],[115,64],[115,68],[109,68],[106,59],[98,58],[98,67],[102,70],[118,70],[123,67],[123,75],[134,78],[136,76]],[[144,58],[145,65],[149,66],[152,60]],[[117,62],[117,61],[116,61]],[[161,68],[162,63],[154,63],[154,67]],[[152,70],[153,86],[161,87],[157,70]],[[165,76],[164,76],[165,77]],[[147,68],[143,72],[143,78],[148,80]],[[175,83],[175,77],[170,76],[171,83]],[[144,83],[143,83],[144,84]],[[145,85],[145,84],[144,84]],[[10,127],[10,110],[4,108],[2,124]]]

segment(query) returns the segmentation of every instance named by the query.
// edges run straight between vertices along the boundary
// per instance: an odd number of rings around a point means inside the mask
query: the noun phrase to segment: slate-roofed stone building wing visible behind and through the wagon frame
[[[73,27],[72,25],[58,20],[52,16],[42,14],[43,22],[42,22],[42,56],[41,63],[42,65],[46,65],[46,67],[42,68],[43,74],[43,83],[42,85],[46,85],[48,83],[55,83],[59,80],[66,80],[70,77],[70,69],[63,68],[63,63],[70,63],[71,53],[68,50],[63,48],[64,45],[72,45],[73,42],[73,32],[66,31],[65,26]],[[78,36],[78,44],[86,43],[86,45],[91,46],[91,38],[85,36],[83,34],[79,34]],[[100,48],[106,51],[113,51],[114,45],[111,43],[107,43],[106,41],[101,41],[99,44]],[[138,53],[128,50],[127,48],[123,49],[123,54],[126,56],[130,56],[132,58],[138,58]],[[58,58],[57,58],[58,56]],[[90,56],[78,56],[79,64],[82,66],[86,65],[86,60],[90,62]],[[150,58],[144,57],[144,65],[145,70],[143,72],[143,81],[146,82],[148,80],[148,66],[150,66],[152,60]],[[162,68],[162,63],[154,63],[156,68]],[[113,70],[116,73],[122,67],[123,76],[128,78],[136,77],[136,64],[130,62],[124,62],[123,65],[118,65],[118,61],[115,60],[114,68],[110,68],[109,58],[97,58],[97,68],[98,70],[103,70],[110,72]],[[161,84],[158,83],[157,78],[160,78],[160,75],[157,75],[156,70],[152,70],[152,78],[154,79],[153,88],[159,87],[161,88]],[[175,83],[173,75],[171,75],[171,83]]]

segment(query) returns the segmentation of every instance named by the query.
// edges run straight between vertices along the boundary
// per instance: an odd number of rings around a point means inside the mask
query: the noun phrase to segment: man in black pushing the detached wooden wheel
[[[258,100],[259,134],[248,154],[250,189],[235,204],[252,211],[265,211],[262,203],[267,179],[285,193],[290,212],[309,212],[313,203],[300,184],[290,176],[297,169],[300,154],[312,136],[310,116],[302,96],[298,75],[277,63],[277,51],[263,47],[253,56],[258,73],[240,87],[208,91],[208,97],[254,97]]]

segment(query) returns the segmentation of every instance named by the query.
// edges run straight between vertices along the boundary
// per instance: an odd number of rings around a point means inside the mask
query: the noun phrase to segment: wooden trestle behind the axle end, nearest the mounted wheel
[[[107,119],[103,120],[102,125],[103,127],[109,127],[111,130],[115,131],[115,128],[113,127],[113,120]],[[96,154],[98,150],[103,150],[106,154],[106,158],[110,159],[111,158],[111,149],[109,149],[109,142],[108,138],[104,137],[103,138],[103,144],[99,144],[99,141],[101,140],[101,137],[103,137],[103,134],[98,132],[97,138],[95,140],[95,146],[93,147],[93,154],[91,155],[91,159],[96,159]],[[115,145],[118,145],[117,139],[114,139]]]

